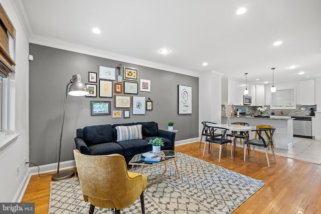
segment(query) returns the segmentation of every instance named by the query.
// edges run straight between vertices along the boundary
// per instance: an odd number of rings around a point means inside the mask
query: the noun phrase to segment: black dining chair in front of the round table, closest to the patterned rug
[[[222,154],[222,145],[225,145],[227,143],[230,143],[231,145],[231,159],[233,159],[233,154],[232,154],[232,141],[225,139],[225,134],[226,131],[228,130],[227,128],[222,128],[222,127],[216,127],[216,126],[209,126],[206,125],[206,135],[205,138],[205,144],[204,144],[204,149],[203,149],[203,157],[205,153],[205,147],[207,142],[209,143],[209,147],[212,148],[211,153],[213,153],[213,145],[211,146],[211,143],[217,143],[220,144],[220,151],[219,151],[219,163],[221,161],[221,154]]]

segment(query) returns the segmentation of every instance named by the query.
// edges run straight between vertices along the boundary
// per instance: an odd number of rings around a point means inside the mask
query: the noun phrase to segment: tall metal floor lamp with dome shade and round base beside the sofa
[[[69,87],[69,92],[68,92],[68,86],[69,85],[70,85],[70,87]],[[64,179],[67,179],[67,178],[70,178],[70,177],[74,176],[74,174],[75,174],[74,170],[59,171],[60,152],[61,152],[61,137],[62,137],[62,130],[63,130],[63,127],[64,127],[67,92],[71,96],[84,96],[84,95],[89,94],[88,88],[82,82],[81,75],[79,75],[79,74],[73,75],[72,78],[70,79],[70,82],[66,86],[65,101],[64,101],[64,108],[63,108],[63,112],[62,112],[60,138],[59,138],[58,167],[57,167],[57,172],[55,174],[53,174],[52,177],[51,177],[51,179],[54,180],[54,181],[56,181],[56,180],[64,180]]]

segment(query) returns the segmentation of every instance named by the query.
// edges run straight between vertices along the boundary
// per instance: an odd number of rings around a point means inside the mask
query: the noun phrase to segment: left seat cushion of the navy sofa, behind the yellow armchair
[[[123,148],[118,143],[101,143],[89,146],[91,155],[121,154],[124,155]]]

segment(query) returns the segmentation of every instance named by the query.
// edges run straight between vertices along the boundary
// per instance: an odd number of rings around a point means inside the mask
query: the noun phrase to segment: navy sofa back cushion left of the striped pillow
[[[87,145],[112,142],[114,140],[112,126],[109,124],[86,126],[83,128],[83,140]]]

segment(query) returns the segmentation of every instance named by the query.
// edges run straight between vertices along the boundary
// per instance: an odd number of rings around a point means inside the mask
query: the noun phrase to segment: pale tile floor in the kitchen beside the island
[[[237,146],[243,145],[237,142]],[[263,147],[256,146],[255,151],[259,150],[264,152]],[[275,155],[321,164],[321,140],[293,137],[292,149],[274,148],[274,152]],[[272,152],[268,150],[268,153]]]

